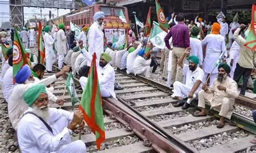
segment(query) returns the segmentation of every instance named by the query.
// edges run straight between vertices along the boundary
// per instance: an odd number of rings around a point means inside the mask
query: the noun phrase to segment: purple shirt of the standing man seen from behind
[[[165,46],[170,50],[169,39],[172,37],[173,47],[187,48],[190,47],[190,34],[188,33],[188,27],[183,22],[179,22],[174,25],[169,33],[165,36]]]

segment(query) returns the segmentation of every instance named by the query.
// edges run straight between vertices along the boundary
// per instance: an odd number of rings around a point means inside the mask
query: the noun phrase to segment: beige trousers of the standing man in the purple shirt
[[[172,79],[171,79],[171,84],[175,81],[182,82],[183,80],[183,74],[182,74],[182,68],[177,64],[179,58],[181,55],[183,55],[185,51],[185,48],[177,48],[173,47],[172,49]],[[183,60],[183,63],[185,62],[185,58]]]

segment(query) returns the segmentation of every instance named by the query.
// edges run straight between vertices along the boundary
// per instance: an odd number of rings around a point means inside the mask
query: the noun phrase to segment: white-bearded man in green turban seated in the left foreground
[[[22,152],[86,152],[83,141],[71,142],[71,133],[84,128],[83,113],[48,108],[43,84],[36,84],[23,94],[28,106],[18,124],[18,144]],[[82,121],[82,122],[81,122]]]

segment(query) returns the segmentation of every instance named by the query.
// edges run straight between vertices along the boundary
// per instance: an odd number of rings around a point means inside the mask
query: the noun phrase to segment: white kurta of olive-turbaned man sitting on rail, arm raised
[[[85,58],[87,59],[87,62],[91,62],[92,56],[90,55],[90,53],[87,52],[84,48],[81,51],[84,54]],[[101,67],[99,66],[99,61],[96,61],[96,67],[97,67],[100,91],[106,89],[113,98],[116,98],[116,93],[114,93],[114,80],[115,80],[114,68],[110,64],[107,64],[105,67]],[[86,82],[84,82],[84,84],[81,84],[81,86],[85,84]]]

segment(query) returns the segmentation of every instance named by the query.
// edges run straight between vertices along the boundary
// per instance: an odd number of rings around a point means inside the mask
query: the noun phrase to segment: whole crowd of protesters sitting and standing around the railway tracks
[[[247,82],[251,75],[255,75],[256,52],[244,47],[248,35],[246,25],[239,24],[238,18],[234,18],[230,26],[225,18],[218,19],[218,23],[212,25],[207,20],[202,22],[198,17],[189,22],[185,20],[183,13],[177,16],[173,13],[171,18],[167,18],[169,32],[164,38],[165,49],[152,46],[149,53],[145,53],[149,36],[136,44],[132,30],[127,36],[127,46],[124,37],[119,37],[122,40],[115,43],[106,42],[103,32],[104,17],[104,12],[95,13],[95,22],[90,27],[83,26],[77,39],[75,30],[70,26],[45,26],[45,66],[38,63],[37,56],[29,49],[36,46],[37,32],[32,27],[29,31],[23,28],[19,34],[32,69],[28,65],[19,69],[14,78],[15,84],[12,78],[13,35],[11,32],[0,33],[5,45],[10,46],[8,60],[5,61],[2,55],[0,81],[3,98],[8,103],[9,118],[17,131],[22,152],[86,151],[82,141],[71,142],[70,138],[76,126],[78,131],[83,129],[82,112],[70,113],[50,108],[50,103],[55,102],[61,106],[65,102],[53,94],[54,82],[70,70],[73,75],[79,76],[80,85],[82,89],[85,88],[93,53],[97,57],[96,67],[103,98],[116,98],[114,90],[122,88],[115,83],[117,68],[127,74],[150,78],[158,67],[156,54],[161,52],[159,69],[167,80],[166,84],[173,89],[172,98],[178,100],[174,107],[187,109],[192,100],[198,99],[201,111],[193,116],[206,116],[205,103],[208,103],[221,116],[217,128],[225,126],[225,118],[230,119],[234,109],[234,99],[239,93],[245,95]],[[226,45],[227,38],[230,40]],[[64,58],[68,66],[63,65]],[[45,71],[54,73],[53,64],[62,71],[43,79]],[[256,122],[255,110],[253,117]],[[256,140],[251,142],[256,143]]]

